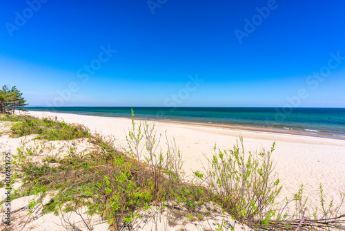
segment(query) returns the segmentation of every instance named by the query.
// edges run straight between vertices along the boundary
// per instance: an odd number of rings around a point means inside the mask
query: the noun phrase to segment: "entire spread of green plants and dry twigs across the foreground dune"
[[[69,212],[78,214],[88,230],[92,230],[88,217],[94,214],[108,221],[110,230],[136,230],[145,212],[168,211],[168,224],[175,226],[179,219],[183,224],[207,220],[215,208],[219,214],[230,214],[255,230],[345,227],[345,216],[340,214],[342,203],[326,201],[322,185],[321,206],[309,208],[310,213],[303,185],[292,199],[277,201],[282,186],[273,172],[275,143],[269,150],[246,152],[240,137],[232,149],[215,147],[210,168],[195,172],[195,178],[187,180],[175,140],[165,134],[167,149],[162,151],[159,144],[163,138],[155,125],[144,121],[138,126],[133,111],[128,148],[121,151],[114,147],[112,139],[91,134],[80,124],[29,115],[1,115],[0,120],[12,122],[13,137],[37,134],[37,138],[45,140],[87,138],[99,147],[82,155],[71,149],[68,155],[48,156],[41,164],[33,158],[38,147],[28,148],[23,143],[13,154],[13,181],[20,178],[23,185],[12,197],[35,195],[30,201],[30,213],[49,197],[43,214],[59,215],[68,228],[77,230],[75,223],[68,220]],[[295,210],[290,212],[292,203]],[[217,230],[226,229],[226,224],[219,221]]]

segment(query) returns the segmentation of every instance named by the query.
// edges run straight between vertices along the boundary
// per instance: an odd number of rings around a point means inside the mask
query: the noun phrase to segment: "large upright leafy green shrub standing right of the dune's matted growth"
[[[218,154],[215,150],[209,160],[208,185],[217,201],[240,222],[267,224],[276,215],[275,198],[282,187],[279,179],[272,177],[274,149],[275,144],[270,151],[246,154],[241,137],[240,145],[237,142],[233,149],[219,150]]]

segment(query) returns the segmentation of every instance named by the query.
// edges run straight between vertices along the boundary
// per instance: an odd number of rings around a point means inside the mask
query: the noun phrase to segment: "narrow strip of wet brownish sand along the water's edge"
[[[105,116],[105,115],[86,115],[81,113],[68,113],[68,112],[55,112],[55,111],[36,111],[36,110],[28,110],[28,112],[37,112],[37,113],[57,113],[57,114],[72,114],[72,115],[83,115],[83,116],[90,116],[90,117],[99,117],[99,118],[115,118],[115,119],[124,119],[124,120],[131,120],[131,118],[126,117],[116,117],[116,116]],[[136,118],[135,120],[144,121],[142,118]],[[307,133],[303,131],[297,131],[293,129],[284,129],[284,128],[277,128],[274,129],[272,127],[255,127],[255,126],[242,126],[242,125],[231,125],[231,124],[219,124],[219,123],[206,123],[206,122],[192,122],[192,121],[179,121],[179,120],[147,120],[150,122],[160,122],[160,123],[170,123],[170,124],[181,124],[181,125],[190,125],[190,126],[201,126],[201,127],[213,127],[219,129],[230,129],[233,131],[257,131],[257,132],[264,132],[264,133],[282,133],[282,134],[289,134],[289,135],[296,135],[296,136],[306,136],[306,137],[314,137],[314,138],[329,138],[334,140],[345,140],[345,136],[336,136],[331,134],[319,134],[319,133]]]

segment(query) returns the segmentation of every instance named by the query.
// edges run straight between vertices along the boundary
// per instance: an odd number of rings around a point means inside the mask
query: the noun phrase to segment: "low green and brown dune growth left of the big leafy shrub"
[[[60,134],[66,131],[84,137],[88,135],[83,127],[48,118],[31,118],[28,115],[2,118],[6,119],[17,121],[12,124],[11,130],[15,137],[38,133],[39,138],[49,140],[79,138],[74,135],[66,138]],[[206,200],[206,194],[201,187],[181,181],[181,155],[176,147],[170,145],[166,153],[156,154],[154,127],[148,123],[143,127],[146,142],[140,154],[144,159],[139,162],[131,154],[117,151],[109,140],[99,135],[86,136],[90,142],[101,147],[98,151],[90,151],[83,156],[70,153],[63,158],[45,158],[43,165],[37,165],[29,154],[30,149],[22,145],[17,150],[18,154],[14,155],[14,164],[19,168],[17,178],[21,178],[23,186],[14,198],[34,194],[39,196],[36,202],[40,203],[53,192],[51,202],[43,205],[43,212],[63,216],[86,207],[89,215],[99,214],[114,230],[130,228],[140,216],[137,211],[151,205],[164,208],[183,204],[193,212],[197,203]],[[64,129],[63,132],[61,129]],[[57,165],[50,165],[51,162]],[[31,202],[30,205],[33,208],[37,203]]]

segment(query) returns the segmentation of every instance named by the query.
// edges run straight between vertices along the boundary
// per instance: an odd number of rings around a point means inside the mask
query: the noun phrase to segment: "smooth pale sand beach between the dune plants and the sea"
[[[91,131],[114,137],[118,149],[126,148],[130,119],[41,111],[29,113],[39,117],[57,115],[58,120],[84,124]],[[182,168],[189,176],[208,168],[206,157],[214,154],[215,144],[220,149],[230,149],[236,139],[243,136],[246,151],[268,150],[276,142],[273,158],[277,163],[275,173],[284,187],[281,198],[291,198],[301,184],[304,184],[305,195],[312,204],[319,201],[320,183],[326,199],[335,198],[337,201],[339,191],[345,191],[344,140],[178,122],[156,121],[155,127],[162,134],[161,149],[165,148],[165,133],[169,139],[175,139],[184,162]]]

